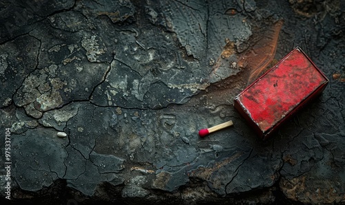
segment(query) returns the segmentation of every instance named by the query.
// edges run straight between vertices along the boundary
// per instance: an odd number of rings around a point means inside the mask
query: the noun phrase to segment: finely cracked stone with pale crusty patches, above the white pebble
[[[59,31],[56,32],[59,33]],[[32,35],[41,39],[41,34],[32,32]],[[48,39],[41,40],[41,47],[48,45],[46,41]],[[80,44],[79,46],[81,47]],[[64,49],[57,50],[61,54],[65,51]],[[85,59],[81,49],[75,50],[72,54],[80,56],[80,59]],[[40,52],[39,62],[49,59],[50,56],[49,52]],[[72,100],[88,99],[92,90],[85,89],[85,87],[95,87],[99,84],[108,69],[107,63],[91,65],[88,62],[72,61],[65,64],[61,63],[63,58],[60,59],[57,61],[57,65],[47,65],[43,69],[35,69],[31,72],[14,94],[14,104],[25,107],[26,112],[34,118],[41,118],[44,111],[61,107]],[[39,63],[39,67],[41,66],[42,64]],[[83,67],[83,69],[75,69],[75,66]],[[92,79],[86,77],[90,74],[94,76]],[[69,76],[75,76],[75,78],[69,78]]]

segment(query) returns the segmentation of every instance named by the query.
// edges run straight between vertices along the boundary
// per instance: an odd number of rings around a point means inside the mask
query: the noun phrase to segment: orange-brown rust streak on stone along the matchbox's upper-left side
[[[190,100],[191,105],[204,103],[207,105],[226,105],[233,104],[232,100],[242,89],[259,77],[260,74],[266,72],[272,64],[277,50],[278,37],[282,29],[284,21],[279,20],[271,25],[266,25],[264,28],[254,28],[253,36],[248,39],[248,48],[239,52],[239,45],[226,39],[219,58],[213,66],[210,75],[215,74],[217,69],[224,63],[224,59],[230,55],[235,54],[237,57],[237,67],[241,71],[234,75],[225,78],[217,83],[213,83],[207,87],[205,91],[201,91],[198,96],[205,99],[206,103],[199,102],[200,98]],[[277,62],[277,61],[275,61]],[[227,65],[230,69],[230,65]]]

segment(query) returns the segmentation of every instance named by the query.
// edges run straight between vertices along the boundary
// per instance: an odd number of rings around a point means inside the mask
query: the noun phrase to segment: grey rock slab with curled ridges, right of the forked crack
[[[150,41],[151,36],[157,41]],[[166,107],[170,103],[184,103],[208,86],[203,81],[206,69],[199,66],[199,61],[184,57],[170,32],[142,28],[138,36],[120,31],[116,39],[110,72],[92,95],[95,104]]]

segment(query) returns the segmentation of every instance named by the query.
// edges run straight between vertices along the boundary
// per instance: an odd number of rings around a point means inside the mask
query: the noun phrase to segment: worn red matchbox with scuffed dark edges
[[[235,109],[263,140],[325,89],[328,79],[296,47],[235,97]]]

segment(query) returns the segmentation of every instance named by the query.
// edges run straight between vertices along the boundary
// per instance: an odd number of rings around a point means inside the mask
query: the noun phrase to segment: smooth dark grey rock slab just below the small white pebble
[[[73,119],[70,121],[75,123]],[[82,133],[84,130],[77,127],[77,131]],[[37,191],[50,186],[54,180],[66,179],[68,186],[93,195],[101,182],[116,185],[123,182],[116,173],[124,169],[124,159],[92,152],[92,148],[86,146],[76,146],[76,135],[71,129],[68,138],[59,138],[56,130],[46,128],[28,129],[20,136],[13,134],[12,143],[16,144],[12,154],[15,159],[13,171],[19,186],[23,190]]]

